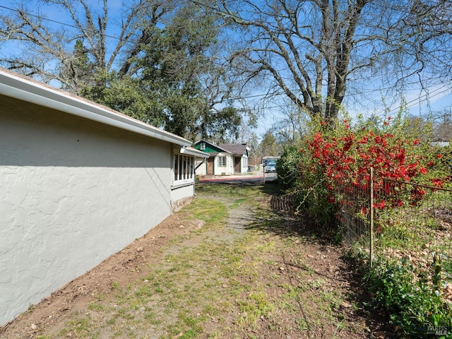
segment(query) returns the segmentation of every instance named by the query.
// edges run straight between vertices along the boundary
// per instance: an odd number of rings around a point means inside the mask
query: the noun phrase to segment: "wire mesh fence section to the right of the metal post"
[[[421,273],[440,265],[452,281],[452,191],[376,180],[383,182],[374,194],[376,253],[404,259]]]

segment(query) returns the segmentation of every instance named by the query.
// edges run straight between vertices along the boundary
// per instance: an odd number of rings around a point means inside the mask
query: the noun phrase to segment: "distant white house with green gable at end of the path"
[[[209,143],[198,141],[197,150],[210,157],[196,163],[196,175],[232,175],[248,172],[249,148],[246,143]]]

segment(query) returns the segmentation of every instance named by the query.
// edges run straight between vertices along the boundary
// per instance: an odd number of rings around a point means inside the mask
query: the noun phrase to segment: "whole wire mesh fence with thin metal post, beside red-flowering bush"
[[[380,178],[341,184],[340,225],[348,245],[452,284],[452,190]],[[371,263],[372,261],[370,261]],[[441,270],[441,273],[434,272]],[[450,288],[450,287],[448,287]],[[452,299],[452,290],[446,295]]]

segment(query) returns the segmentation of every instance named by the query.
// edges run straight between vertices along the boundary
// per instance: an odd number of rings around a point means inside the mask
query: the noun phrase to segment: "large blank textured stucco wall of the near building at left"
[[[171,145],[1,97],[0,324],[170,214]]]

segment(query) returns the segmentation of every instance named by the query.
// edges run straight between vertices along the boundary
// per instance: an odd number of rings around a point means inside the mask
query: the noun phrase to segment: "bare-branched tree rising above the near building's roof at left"
[[[40,6],[20,8],[0,17],[0,41],[13,46],[0,63],[42,81],[59,81],[79,93],[93,82],[95,71],[117,70],[121,78],[136,71],[133,61],[152,38],[154,28],[174,7],[167,0],[132,0],[121,6],[121,21],[109,17],[109,4],[93,7],[88,0],[42,0]],[[65,20],[47,18],[45,6],[60,10]],[[114,32],[114,33],[109,33]],[[114,35],[114,36],[113,36]],[[5,53],[3,53],[5,54]]]

